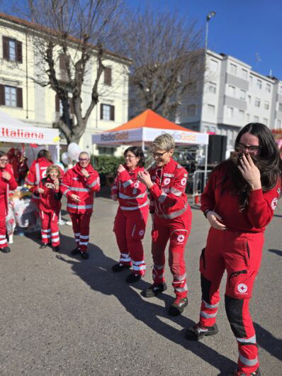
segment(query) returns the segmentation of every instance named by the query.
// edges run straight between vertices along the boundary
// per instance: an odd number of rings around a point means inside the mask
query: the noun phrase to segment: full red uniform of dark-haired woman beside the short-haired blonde
[[[147,187],[137,180],[140,171],[144,171],[144,168],[136,167],[134,171],[125,170],[115,178],[112,195],[118,195],[120,205],[115,216],[113,231],[120,250],[120,264],[132,265],[134,274],[145,275],[142,238],[145,236],[149,204]]]

